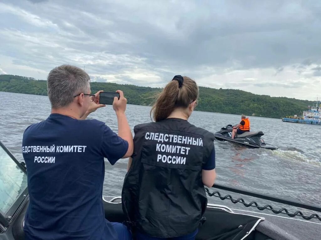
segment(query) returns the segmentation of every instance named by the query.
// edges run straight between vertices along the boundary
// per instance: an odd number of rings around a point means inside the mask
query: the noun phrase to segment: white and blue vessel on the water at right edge
[[[286,116],[282,118],[283,122],[303,123],[321,125],[321,104],[316,106],[308,106],[308,110],[302,112],[302,116]]]

